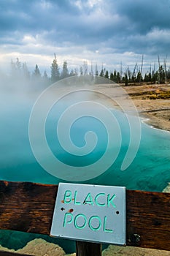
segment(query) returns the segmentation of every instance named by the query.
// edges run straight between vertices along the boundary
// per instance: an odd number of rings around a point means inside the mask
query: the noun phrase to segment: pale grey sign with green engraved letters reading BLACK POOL
[[[125,187],[60,183],[50,236],[125,245]]]

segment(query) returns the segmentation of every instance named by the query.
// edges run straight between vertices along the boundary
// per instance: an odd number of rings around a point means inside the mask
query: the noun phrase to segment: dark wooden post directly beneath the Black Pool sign
[[[76,242],[76,256],[101,256],[101,244]]]

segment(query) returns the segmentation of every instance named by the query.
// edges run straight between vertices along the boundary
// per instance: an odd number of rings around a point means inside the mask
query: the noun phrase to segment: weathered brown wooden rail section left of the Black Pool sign
[[[0,181],[0,228],[49,234],[58,186]]]

